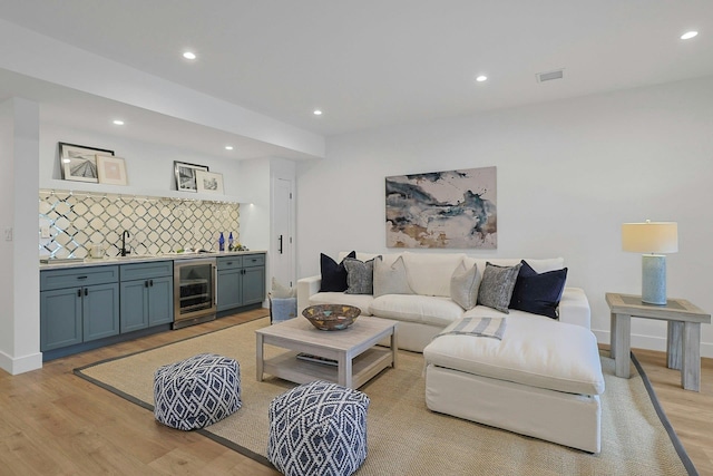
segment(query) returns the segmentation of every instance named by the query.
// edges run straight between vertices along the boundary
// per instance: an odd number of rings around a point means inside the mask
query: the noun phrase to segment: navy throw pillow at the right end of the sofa
[[[567,281],[567,269],[538,273],[521,261],[522,266],[510,298],[510,309],[557,319],[557,307]]]

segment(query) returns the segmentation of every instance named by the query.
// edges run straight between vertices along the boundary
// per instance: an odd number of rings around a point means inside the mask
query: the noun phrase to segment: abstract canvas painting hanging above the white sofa
[[[496,167],[387,177],[387,246],[495,250]]]

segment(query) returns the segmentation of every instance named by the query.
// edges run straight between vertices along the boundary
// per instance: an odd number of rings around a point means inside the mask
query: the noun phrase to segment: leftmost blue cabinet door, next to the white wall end
[[[81,288],[40,292],[40,350],[81,343]]]

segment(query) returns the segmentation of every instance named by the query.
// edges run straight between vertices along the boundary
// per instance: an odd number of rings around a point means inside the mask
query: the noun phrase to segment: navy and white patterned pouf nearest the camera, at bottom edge
[[[270,404],[267,458],[287,476],[351,475],[367,458],[369,397],[326,381]]]

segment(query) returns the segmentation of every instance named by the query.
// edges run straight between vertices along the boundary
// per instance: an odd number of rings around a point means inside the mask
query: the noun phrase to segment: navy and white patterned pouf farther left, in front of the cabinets
[[[154,416],[172,428],[203,428],[242,405],[237,360],[201,353],[154,372]]]

